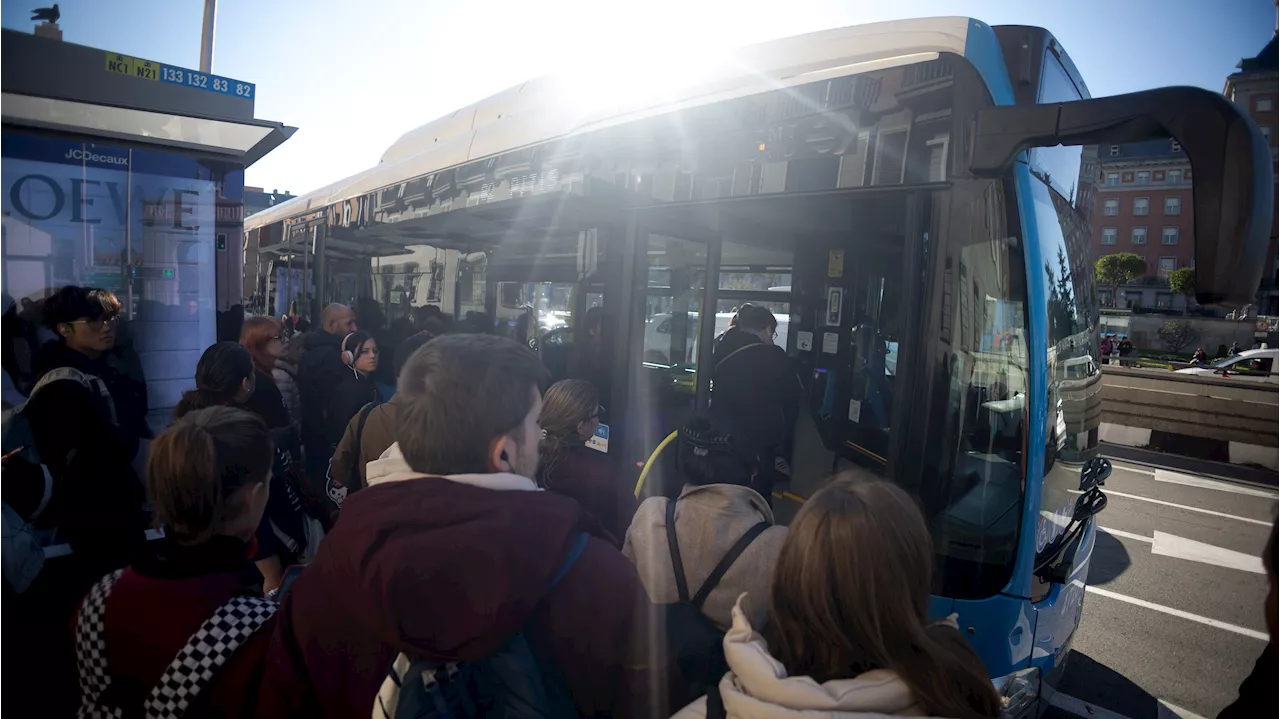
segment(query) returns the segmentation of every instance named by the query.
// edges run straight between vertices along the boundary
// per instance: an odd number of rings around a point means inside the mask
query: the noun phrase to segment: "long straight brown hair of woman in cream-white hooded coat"
[[[773,569],[769,649],[815,682],[891,669],[929,716],[995,718],[982,659],[951,626],[929,623],[933,542],[896,485],[845,472],[791,522]]]

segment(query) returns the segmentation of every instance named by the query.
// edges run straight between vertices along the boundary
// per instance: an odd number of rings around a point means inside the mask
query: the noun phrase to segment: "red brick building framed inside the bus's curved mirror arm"
[[[1147,276],[1121,285],[1116,306],[1183,307],[1169,275],[1194,266],[1190,180],[1190,161],[1171,139],[1084,147],[1076,203],[1089,219],[1093,256],[1147,260]],[[1110,287],[1098,285],[1098,294],[1112,304]]]

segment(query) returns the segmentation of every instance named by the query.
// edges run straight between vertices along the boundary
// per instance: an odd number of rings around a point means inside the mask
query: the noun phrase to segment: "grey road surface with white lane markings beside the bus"
[[[1114,461],[1080,626],[1047,716],[1216,716],[1266,646],[1275,486]]]

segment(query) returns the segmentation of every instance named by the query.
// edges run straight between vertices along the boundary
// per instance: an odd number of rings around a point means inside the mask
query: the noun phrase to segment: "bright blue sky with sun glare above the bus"
[[[42,0],[0,0],[29,32]],[[63,0],[64,40],[198,67],[202,0]],[[298,129],[247,183],[302,193],[372,166],[402,133],[550,70],[886,19],[1047,27],[1094,96],[1221,91],[1275,31],[1272,0],[221,0],[214,73]]]

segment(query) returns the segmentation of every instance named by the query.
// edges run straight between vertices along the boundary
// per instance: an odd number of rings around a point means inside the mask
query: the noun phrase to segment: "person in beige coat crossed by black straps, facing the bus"
[[[760,626],[767,617],[769,577],[786,527],[773,526],[769,504],[748,486],[755,473],[753,453],[730,434],[695,420],[680,430],[678,466],[686,485],[675,505],[676,541],[690,596],[696,596],[721,559],[756,525],[763,530],[707,595],[701,610],[717,627],[727,629],[737,597],[748,617]],[[652,496],[640,505],[627,530],[622,553],[635,563],[654,604],[680,601],[671,544],[667,541],[669,499]]]

